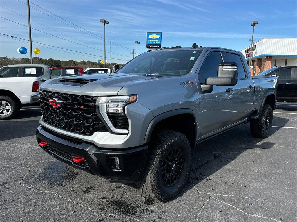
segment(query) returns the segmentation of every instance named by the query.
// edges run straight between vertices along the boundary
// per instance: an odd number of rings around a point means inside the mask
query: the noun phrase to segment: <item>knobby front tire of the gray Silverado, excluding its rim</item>
[[[183,152],[184,164],[176,183],[168,187],[161,180],[161,168],[163,159],[175,147]],[[189,141],[182,133],[158,130],[151,137],[148,152],[146,168],[136,185],[146,196],[162,202],[168,201],[181,191],[189,174],[191,164]]]

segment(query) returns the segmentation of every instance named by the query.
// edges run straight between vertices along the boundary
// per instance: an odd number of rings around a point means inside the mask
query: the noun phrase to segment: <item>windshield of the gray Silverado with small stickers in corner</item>
[[[159,73],[160,75],[185,75],[189,73],[201,50],[157,50],[146,52],[126,65],[118,73]]]

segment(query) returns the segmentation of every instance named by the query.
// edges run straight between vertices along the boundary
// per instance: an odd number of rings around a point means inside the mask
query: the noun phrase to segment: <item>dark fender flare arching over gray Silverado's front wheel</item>
[[[148,142],[151,139],[151,134],[153,132],[154,127],[156,126],[157,123],[159,123],[161,120],[164,120],[168,117],[171,116],[176,116],[179,114],[192,114],[194,119],[195,119],[195,125],[197,124],[196,122],[196,116],[193,110],[189,108],[182,108],[182,109],[177,109],[177,110],[170,110],[168,112],[163,112],[156,117],[154,117],[151,122],[149,123],[149,126],[146,130],[146,135],[144,138],[144,143]],[[195,141],[197,141],[197,133],[196,133],[197,128],[195,129]]]

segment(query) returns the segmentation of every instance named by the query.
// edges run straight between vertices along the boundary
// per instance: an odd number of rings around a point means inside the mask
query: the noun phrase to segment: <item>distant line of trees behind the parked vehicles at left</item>
[[[30,59],[28,58],[8,58],[7,56],[0,57],[0,67],[3,67],[5,65],[20,65],[20,64],[30,64]],[[33,57],[33,64],[44,64],[51,67],[58,67],[58,66],[78,66],[83,68],[95,68],[95,67],[104,67],[104,64],[100,64],[98,62],[92,62],[92,61],[74,61],[72,59],[69,59],[68,61],[61,61],[61,60],[55,60],[55,59],[42,59],[37,56]],[[120,67],[123,64],[118,64],[115,62],[107,63],[107,68],[112,68],[113,65],[119,65]]]

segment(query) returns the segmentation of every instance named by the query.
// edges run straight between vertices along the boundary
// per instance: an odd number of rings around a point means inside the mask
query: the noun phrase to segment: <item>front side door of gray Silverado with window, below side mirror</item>
[[[212,51],[206,55],[198,73],[201,85],[205,84],[207,77],[217,77],[219,62],[223,62],[220,52]],[[228,86],[214,85],[211,93],[200,96],[200,138],[230,125],[233,112],[233,93],[227,92],[228,88]]]

